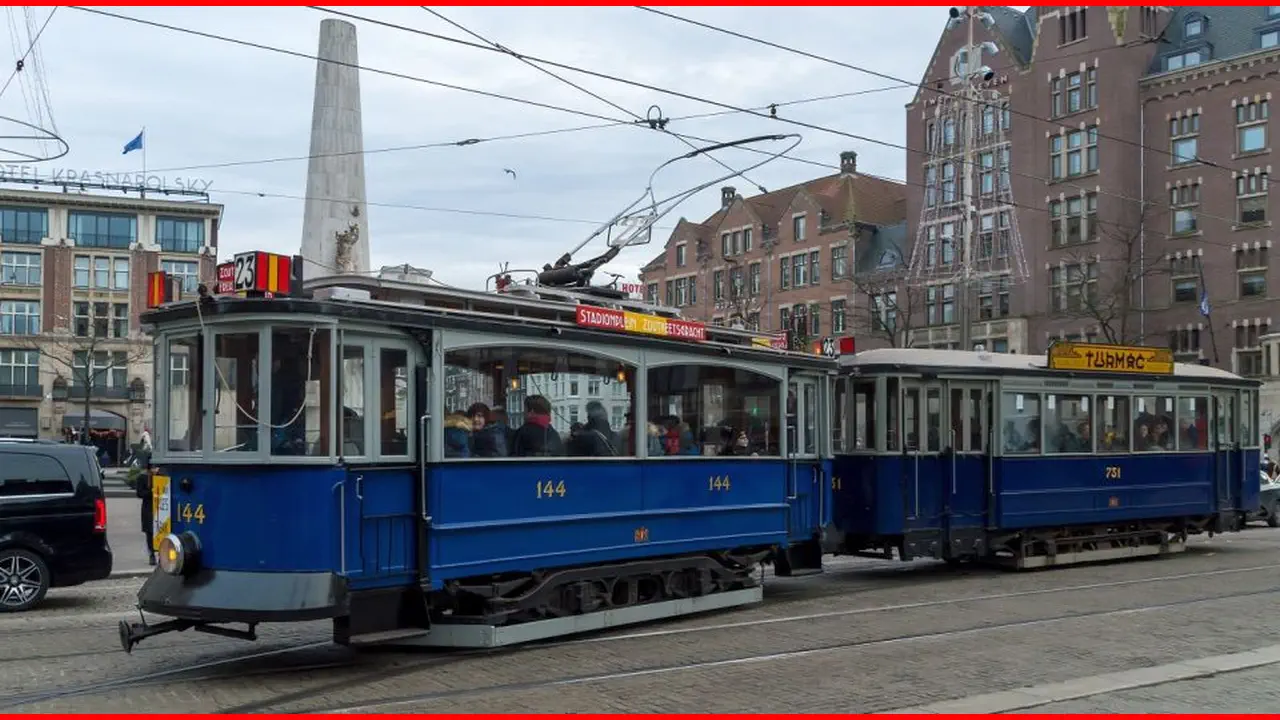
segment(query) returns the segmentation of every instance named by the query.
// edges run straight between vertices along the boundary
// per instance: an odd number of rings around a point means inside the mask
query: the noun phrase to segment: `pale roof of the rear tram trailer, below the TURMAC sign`
[[[1014,355],[1007,352],[977,352],[965,350],[933,350],[916,347],[886,347],[878,350],[864,350],[855,355],[844,355],[838,360],[841,370],[852,368],[869,369],[895,369],[895,370],[954,370],[968,374],[997,374],[997,375],[1053,375],[1053,377],[1079,377],[1079,378],[1116,378],[1123,377],[1130,380],[1162,379],[1169,375],[1142,374],[1142,373],[1107,373],[1107,372],[1073,372],[1050,370],[1048,357],[1044,355]],[[1188,379],[1201,382],[1222,382],[1235,384],[1261,384],[1258,380],[1242,378],[1235,373],[1198,365],[1192,363],[1175,363],[1174,379]]]

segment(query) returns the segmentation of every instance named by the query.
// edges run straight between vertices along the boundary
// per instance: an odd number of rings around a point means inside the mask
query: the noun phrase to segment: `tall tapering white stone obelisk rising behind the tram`
[[[321,20],[317,56],[302,217],[303,278],[367,275],[369,214],[356,26]]]

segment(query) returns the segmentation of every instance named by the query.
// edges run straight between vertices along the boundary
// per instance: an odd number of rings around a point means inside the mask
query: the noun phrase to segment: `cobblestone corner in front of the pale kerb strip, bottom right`
[[[1121,691],[1091,698],[1055,702],[1018,712],[1275,712],[1280,708],[1280,671],[1254,667],[1212,678]]]

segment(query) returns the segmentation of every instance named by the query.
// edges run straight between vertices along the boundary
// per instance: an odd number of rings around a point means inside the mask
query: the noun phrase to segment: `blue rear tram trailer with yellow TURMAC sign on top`
[[[1180,552],[1258,507],[1258,382],[1164,348],[842,356],[836,553],[1016,569]]]

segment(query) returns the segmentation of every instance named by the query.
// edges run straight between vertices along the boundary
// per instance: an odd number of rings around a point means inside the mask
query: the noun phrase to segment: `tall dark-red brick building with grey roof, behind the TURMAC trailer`
[[[1280,6],[983,10],[991,22],[974,41],[998,49],[983,83],[997,100],[972,129],[1007,135],[997,156],[1010,165],[1029,278],[993,307],[978,287],[952,290],[957,301],[980,309],[975,323],[1016,327],[1012,351],[1039,354],[1052,338],[1169,345],[1183,360],[1258,374],[1280,293],[1267,187]],[[906,108],[913,241],[936,201],[927,188],[946,174],[931,109],[938,90],[959,90],[968,33],[963,23],[942,33]],[[913,319],[916,345],[950,337],[941,314]]]

